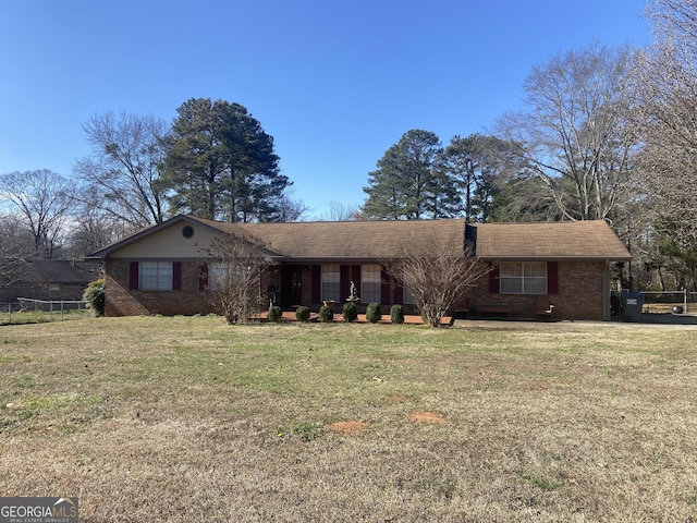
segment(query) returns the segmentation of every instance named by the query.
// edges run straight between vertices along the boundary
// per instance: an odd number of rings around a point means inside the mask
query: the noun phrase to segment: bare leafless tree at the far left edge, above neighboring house
[[[48,169],[11,172],[0,177],[0,199],[13,204],[32,231],[34,256],[51,258],[75,207],[75,184]]]

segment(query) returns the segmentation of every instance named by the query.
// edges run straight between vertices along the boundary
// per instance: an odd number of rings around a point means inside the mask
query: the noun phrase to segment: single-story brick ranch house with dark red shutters
[[[222,223],[178,216],[88,256],[105,264],[106,315],[206,314],[215,260],[205,253],[222,233],[261,241],[276,264],[260,289],[284,308],[338,306],[356,285],[362,303],[409,305],[381,266],[417,244],[462,254],[473,242],[491,264],[468,293],[473,313],[530,318],[547,295],[558,319],[610,319],[610,264],[632,259],[603,221],[466,224],[464,220]]]

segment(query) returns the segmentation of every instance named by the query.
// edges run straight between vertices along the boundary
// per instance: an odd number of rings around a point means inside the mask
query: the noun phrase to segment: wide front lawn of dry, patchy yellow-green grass
[[[554,327],[2,327],[0,491],[85,521],[689,521],[697,331]]]

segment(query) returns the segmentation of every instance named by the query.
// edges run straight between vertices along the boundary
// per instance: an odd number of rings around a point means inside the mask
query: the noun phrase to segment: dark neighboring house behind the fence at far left
[[[99,264],[75,259],[19,259],[14,275],[15,279],[0,284],[0,303],[14,303],[19,297],[82,300],[87,284],[101,278]]]

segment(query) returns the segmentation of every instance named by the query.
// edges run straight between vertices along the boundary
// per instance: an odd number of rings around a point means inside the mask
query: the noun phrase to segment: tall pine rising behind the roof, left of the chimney
[[[412,130],[368,174],[362,214],[368,219],[423,219],[453,215],[454,188],[438,170],[442,147],[429,131]]]

